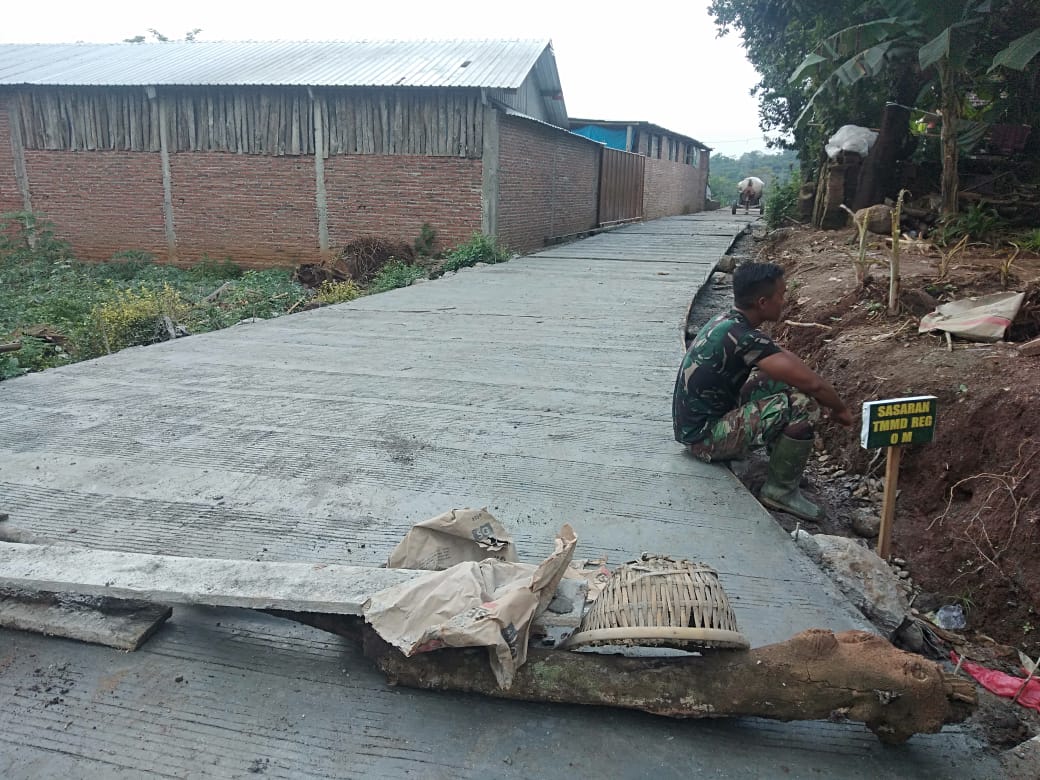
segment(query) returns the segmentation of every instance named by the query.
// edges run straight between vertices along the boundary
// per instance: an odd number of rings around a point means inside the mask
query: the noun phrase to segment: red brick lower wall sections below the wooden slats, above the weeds
[[[21,210],[6,112],[0,112],[0,213]],[[171,156],[177,260],[230,258],[246,267],[316,262],[314,159],[185,152]],[[352,155],[326,160],[329,237],[412,243],[422,224],[437,248],[480,230],[480,160]],[[27,151],[33,208],[82,260],[141,250],[167,260],[162,163],[148,152]]]

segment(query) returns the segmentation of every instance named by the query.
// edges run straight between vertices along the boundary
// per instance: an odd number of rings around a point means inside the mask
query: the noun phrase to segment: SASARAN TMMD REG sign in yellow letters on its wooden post
[[[932,441],[937,401],[934,395],[915,395],[863,404],[860,443],[867,449],[888,449],[885,462],[885,497],[881,510],[881,528],[878,531],[878,555],[882,558],[888,558],[891,544],[903,447]]]

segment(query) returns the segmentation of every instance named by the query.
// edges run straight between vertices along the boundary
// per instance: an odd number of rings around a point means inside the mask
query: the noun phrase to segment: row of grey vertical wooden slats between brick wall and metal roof
[[[151,89],[151,92],[149,92]],[[26,149],[314,154],[314,109],[326,156],[408,154],[479,158],[475,89],[342,87],[37,87],[16,107]],[[154,97],[150,97],[154,96]]]

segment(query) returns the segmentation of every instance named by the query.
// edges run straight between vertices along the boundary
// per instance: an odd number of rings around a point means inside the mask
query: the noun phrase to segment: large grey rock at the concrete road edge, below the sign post
[[[796,540],[805,549],[808,542]],[[899,578],[884,561],[855,540],[826,534],[812,536],[824,570],[849,600],[890,635],[910,610]],[[811,555],[810,555],[811,557]]]

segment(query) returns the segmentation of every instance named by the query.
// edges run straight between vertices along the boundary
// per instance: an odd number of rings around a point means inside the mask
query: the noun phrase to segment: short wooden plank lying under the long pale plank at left
[[[165,604],[0,590],[0,627],[136,650],[171,615]]]

